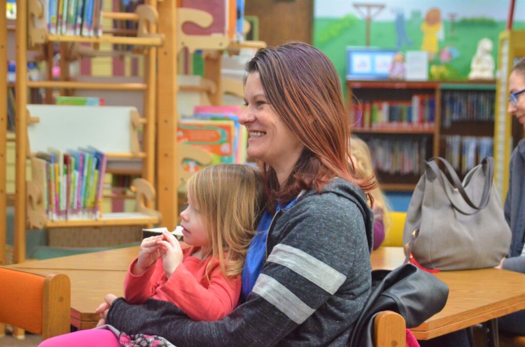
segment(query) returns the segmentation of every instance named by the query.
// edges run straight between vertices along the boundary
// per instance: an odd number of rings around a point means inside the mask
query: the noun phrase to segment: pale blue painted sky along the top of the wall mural
[[[395,20],[396,10],[402,10],[405,17],[409,17],[413,10],[421,12],[424,16],[430,7],[438,7],[445,20],[448,19],[449,13],[456,13],[459,19],[488,17],[506,21],[510,0],[314,0],[314,17],[339,18],[348,14],[360,17],[353,6],[354,3],[385,4],[386,7],[374,17],[374,21]],[[516,1],[514,20],[525,20],[525,1]]]

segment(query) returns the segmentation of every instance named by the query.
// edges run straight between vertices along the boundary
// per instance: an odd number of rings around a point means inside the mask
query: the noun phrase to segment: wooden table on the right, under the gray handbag
[[[404,261],[403,248],[380,247],[372,252],[373,269],[393,269]],[[443,310],[411,329],[428,340],[525,309],[525,275],[495,268],[443,271],[436,274],[449,287]]]

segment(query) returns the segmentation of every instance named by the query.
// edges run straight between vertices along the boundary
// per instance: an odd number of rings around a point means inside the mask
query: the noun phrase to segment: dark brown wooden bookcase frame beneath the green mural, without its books
[[[445,156],[445,136],[492,136],[493,119],[487,122],[458,121],[443,126],[443,94],[495,91],[495,81],[346,81],[346,102],[349,110],[356,105],[363,109],[366,102],[410,102],[414,94],[434,98],[434,125],[395,127],[352,127],[352,134],[365,140],[379,138],[412,139],[423,143],[426,138],[426,156]],[[377,171],[381,187],[387,191],[412,191],[421,175],[390,174]]]

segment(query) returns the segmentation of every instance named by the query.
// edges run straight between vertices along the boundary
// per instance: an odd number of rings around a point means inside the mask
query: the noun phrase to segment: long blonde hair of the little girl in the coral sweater
[[[219,259],[226,278],[239,275],[264,208],[259,169],[240,164],[206,167],[188,180],[186,193],[201,213],[211,245],[203,259]],[[208,279],[213,263],[206,268]]]

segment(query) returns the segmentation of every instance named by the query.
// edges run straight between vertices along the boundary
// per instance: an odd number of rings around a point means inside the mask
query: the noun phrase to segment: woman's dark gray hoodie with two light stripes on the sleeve
[[[169,302],[113,302],[109,324],[192,345],[346,345],[370,294],[373,213],[361,189],[333,179],[276,213],[253,292],[229,316],[195,322]]]

